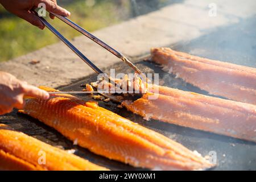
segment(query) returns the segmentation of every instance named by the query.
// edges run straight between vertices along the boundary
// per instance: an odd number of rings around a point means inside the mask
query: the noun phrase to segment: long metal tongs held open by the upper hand
[[[35,14],[38,15],[36,12],[35,12]],[[62,20],[65,23],[67,23],[69,26],[75,28],[75,30],[81,32],[81,34],[87,36],[89,39],[93,40],[94,42],[96,42],[97,44],[102,46],[103,48],[107,49],[109,52],[113,53],[113,55],[117,56],[119,59],[121,59],[126,64],[128,64],[129,67],[131,67],[136,73],[142,74],[142,72],[137,67],[135,67],[135,65],[133,63],[131,63],[131,61],[129,59],[127,59],[127,57],[122,55],[122,53],[116,51],[114,48],[110,47],[108,44],[106,44],[102,40],[98,39],[96,36],[90,34],[90,32],[86,31],[84,28],[80,27],[78,24],[72,22],[67,17],[57,15],[55,13],[51,13],[51,14],[55,15],[57,18],[59,18],[60,20]],[[39,16],[39,18],[42,20],[43,24],[51,32],[53,32],[53,34],[55,34],[63,43],[65,43],[70,49],[72,49],[72,51],[75,52],[86,64],[88,64],[90,68],[92,68],[98,74],[104,73],[101,71],[100,68],[98,68],[96,65],[94,65],[92,63],[92,61],[90,61],[85,55],[83,55],[79,51],[79,49],[77,49],[75,46],[73,46],[73,44],[71,42],[69,42],[63,35],[61,35],[59,31],[57,31],[50,23],[48,23],[46,19],[44,19],[42,16]]]

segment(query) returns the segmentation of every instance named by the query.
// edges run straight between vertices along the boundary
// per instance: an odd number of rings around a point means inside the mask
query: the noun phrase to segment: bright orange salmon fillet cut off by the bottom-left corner
[[[0,170],[107,170],[0,124]]]

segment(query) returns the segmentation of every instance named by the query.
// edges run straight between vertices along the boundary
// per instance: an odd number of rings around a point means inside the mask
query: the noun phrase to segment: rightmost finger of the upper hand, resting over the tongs
[[[56,2],[51,0],[36,0],[35,6],[38,6],[39,3],[44,3],[46,5],[46,10],[52,13],[56,13],[63,16],[70,16],[69,11],[57,5]]]

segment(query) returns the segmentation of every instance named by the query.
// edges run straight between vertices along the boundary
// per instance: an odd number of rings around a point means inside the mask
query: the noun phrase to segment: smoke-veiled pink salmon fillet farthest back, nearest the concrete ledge
[[[256,68],[152,48],[151,60],[210,94],[256,105]]]

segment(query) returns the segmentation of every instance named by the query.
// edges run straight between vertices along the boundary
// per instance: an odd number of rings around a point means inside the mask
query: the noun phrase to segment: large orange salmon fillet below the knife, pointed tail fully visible
[[[40,88],[56,92],[54,89]],[[213,167],[181,144],[95,102],[85,102],[68,94],[55,94],[47,101],[27,100],[22,112],[38,118],[95,154],[134,167],[163,170]]]

